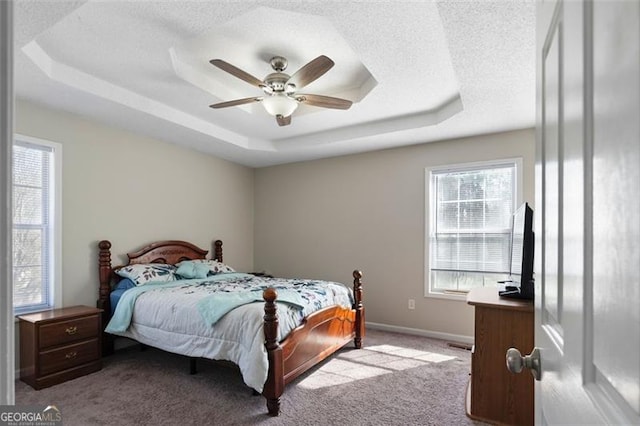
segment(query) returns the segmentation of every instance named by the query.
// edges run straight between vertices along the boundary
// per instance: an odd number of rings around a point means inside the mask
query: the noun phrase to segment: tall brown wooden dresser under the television
[[[467,415],[489,423],[533,425],[534,384],[528,370],[512,374],[507,349],[533,350],[533,301],[506,299],[494,288],[473,289],[475,344],[467,390]]]

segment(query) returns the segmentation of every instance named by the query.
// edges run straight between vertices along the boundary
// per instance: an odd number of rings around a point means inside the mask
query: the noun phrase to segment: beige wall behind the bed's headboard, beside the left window
[[[62,144],[63,305],[95,305],[97,243],[112,262],[163,239],[211,250],[228,241],[225,260],[253,265],[253,169],[26,102],[16,133]]]

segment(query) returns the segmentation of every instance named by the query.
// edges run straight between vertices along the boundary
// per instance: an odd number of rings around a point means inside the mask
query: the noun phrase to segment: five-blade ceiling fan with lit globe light
[[[264,96],[235,99],[209,105],[214,109],[262,102],[264,109],[276,117],[278,125],[287,126],[291,124],[291,114],[301,103],[332,109],[349,109],[352,104],[347,99],[297,92],[298,89],[320,78],[335,65],[331,59],[324,55],[318,56],[291,76],[283,72],[287,68],[287,60],[282,56],[274,56],[271,58],[270,64],[275,72],[267,75],[264,80],[260,80],[222,59],[212,59],[209,62],[240,80],[261,88],[264,92]]]

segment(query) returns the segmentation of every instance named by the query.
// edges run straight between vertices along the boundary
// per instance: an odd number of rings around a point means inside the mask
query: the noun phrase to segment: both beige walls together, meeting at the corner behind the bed
[[[368,322],[471,336],[464,301],[424,297],[424,169],[522,157],[524,198],[533,201],[533,130],[253,170],[72,114],[16,107],[17,133],[63,146],[64,306],[95,303],[101,239],[119,263],[151,241],[210,249],[221,238],[238,270],[350,282],[362,269]]]

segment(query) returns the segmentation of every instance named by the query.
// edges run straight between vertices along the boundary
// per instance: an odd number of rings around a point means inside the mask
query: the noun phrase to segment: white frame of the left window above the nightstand
[[[30,312],[37,312],[46,309],[62,307],[62,144],[50,140],[14,134],[14,145],[21,142],[30,145],[46,146],[53,153],[50,185],[53,188],[49,197],[50,227],[49,235],[49,298],[44,305],[34,308],[16,309],[13,306],[14,314],[22,315]],[[13,226],[12,226],[13,232]],[[14,266],[15,267],[15,266]]]

